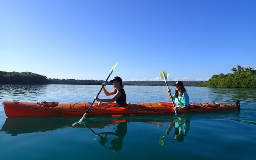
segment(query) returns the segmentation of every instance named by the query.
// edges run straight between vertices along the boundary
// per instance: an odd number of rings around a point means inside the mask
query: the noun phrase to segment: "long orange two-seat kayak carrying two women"
[[[82,117],[91,103],[62,103],[58,102],[2,102],[7,117]],[[134,115],[163,115],[174,114],[172,103],[128,103],[126,107],[114,107],[116,103],[107,103],[110,107],[94,103],[87,116],[134,116]],[[113,106],[113,107],[111,107]],[[220,110],[240,110],[239,101],[236,104],[190,104],[191,108],[181,110],[178,114],[212,112]]]

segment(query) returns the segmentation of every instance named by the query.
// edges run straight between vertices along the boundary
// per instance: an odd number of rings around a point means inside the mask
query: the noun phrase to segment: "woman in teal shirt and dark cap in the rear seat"
[[[186,92],[186,89],[183,86],[183,83],[181,81],[177,81],[175,84],[175,94],[172,96],[172,99],[176,103],[173,110],[185,110],[190,108],[189,106],[189,97]],[[171,92],[170,89],[168,89],[168,92]],[[168,94],[169,98],[171,99],[170,94]]]

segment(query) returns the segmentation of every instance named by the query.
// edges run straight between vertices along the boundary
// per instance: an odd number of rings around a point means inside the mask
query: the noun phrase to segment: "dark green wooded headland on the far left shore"
[[[46,76],[32,72],[0,71],[0,84],[49,84]]]

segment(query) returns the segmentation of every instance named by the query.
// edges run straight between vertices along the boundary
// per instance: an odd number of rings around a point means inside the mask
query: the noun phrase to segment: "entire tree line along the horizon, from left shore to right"
[[[184,86],[223,87],[223,88],[256,88],[256,70],[238,65],[231,69],[233,73],[213,75],[207,82],[184,81]],[[51,79],[32,72],[0,71],[0,84],[84,84],[100,85],[104,80]],[[163,81],[124,81],[124,85],[165,86]],[[168,81],[172,86],[175,81]],[[111,85],[108,82],[108,85]]]

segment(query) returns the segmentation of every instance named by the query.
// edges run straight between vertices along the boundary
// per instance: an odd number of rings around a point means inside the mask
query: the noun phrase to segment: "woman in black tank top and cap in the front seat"
[[[94,97],[95,100],[99,101],[98,105],[100,106],[110,106],[108,104],[102,103],[112,103],[116,100],[116,107],[124,107],[126,106],[126,94],[124,92],[124,85],[122,84],[123,81],[120,77],[115,77],[113,80],[110,80],[110,82],[113,84],[113,87],[116,88],[112,92],[108,92],[105,88],[106,83],[103,83],[103,91],[106,96],[114,95],[111,99],[100,99],[98,97]]]

